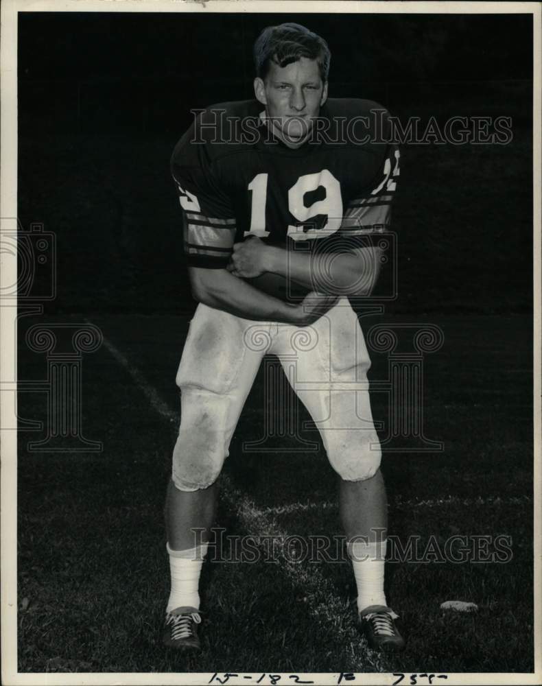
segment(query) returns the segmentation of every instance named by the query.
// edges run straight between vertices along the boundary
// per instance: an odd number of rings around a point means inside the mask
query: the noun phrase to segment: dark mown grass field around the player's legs
[[[42,321],[43,320],[43,321]],[[423,548],[434,536],[503,534],[506,564],[389,563],[388,600],[408,648],[368,650],[355,630],[347,563],[204,565],[204,649],[183,658],[160,643],[168,591],[163,497],[178,427],[182,316],[94,314],[104,334],[84,356],[84,436],[102,453],[36,453],[20,433],[19,670],[21,672],[529,672],[532,643],[532,324],[526,316],[395,316],[433,323],[443,348],[425,358],[425,434],[441,453],[384,454],[390,534]],[[19,375],[43,379],[21,320]],[[370,318],[368,324],[377,323]],[[370,378],[385,379],[373,353]],[[335,479],[319,451],[243,453],[261,436],[261,375],[221,477],[217,519],[227,534],[340,532]],[[306,418],[303,409],[302,418]],[[23,418],[45,397],[21,394]],[[386,397],[373,394],[375,419]],[[305,431],[317,440],[315,431]],[[227,545],[227,543],[226,543]],[[228,550],[222,551],[224,554]],[[477,615],[443,615],[467,600]]]

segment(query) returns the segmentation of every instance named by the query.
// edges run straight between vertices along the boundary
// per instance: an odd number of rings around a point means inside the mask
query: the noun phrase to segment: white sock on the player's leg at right
[[[348,552],[357,586],[357,611],[369,605],[387,605],[384,595],[386,541],[349,541]]]

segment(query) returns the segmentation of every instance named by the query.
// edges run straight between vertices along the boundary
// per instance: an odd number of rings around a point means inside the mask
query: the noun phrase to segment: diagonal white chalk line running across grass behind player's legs
[[[105,337],[104,346],[132,377],[136,386],[147,397],[152,408],[167,422],[178,422],[178,412],[171,410],[167,403],[161,399],[156,388],[151,386],[141,372],[130,364],[126,356]],[[231,508],[235,509],[248,534],[272,536],[275,541],[287,539],[287,532],[280,528],[274,517],[270,516],[272,512],[257,508],[253,501],[241,493],[238,488],[235,488],[227,474],[222,473],[220,482],[222,497],[228,501]],[[388,671],[381,661],[381,656],[362,644],[360,635],[351,621],[353,610],[349,607],[349,603],[335,594],[333,584],[322,576],[315,565],[304,567],[283,556],[281,569],[285,571],[296,586],[303,589],[307,599],[307,611],[314,618],[314,621],[320,624],[322,630],[340,632],[345,646],[349,648],[350,667],[354,672],[361,672],[367,667],[372,667],[377,672]],[[346,621],[347,619],[349,621]]]

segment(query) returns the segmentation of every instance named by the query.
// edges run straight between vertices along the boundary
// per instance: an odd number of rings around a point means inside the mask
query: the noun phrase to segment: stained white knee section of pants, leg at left
[[[172,480],[179,490],[211,486],[228,455],[228,397],[182,388],[180,429],[173,451]]]

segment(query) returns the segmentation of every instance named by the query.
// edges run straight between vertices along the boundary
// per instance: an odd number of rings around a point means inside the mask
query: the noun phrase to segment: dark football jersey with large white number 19
[[[399,150],[384,108],[328,99],[296,149],[272,135],[262,110],[256,100],[213,105],[175,147],[188,265],[224,268],[248,234],[327,251],[370,245],[388,229]]]

